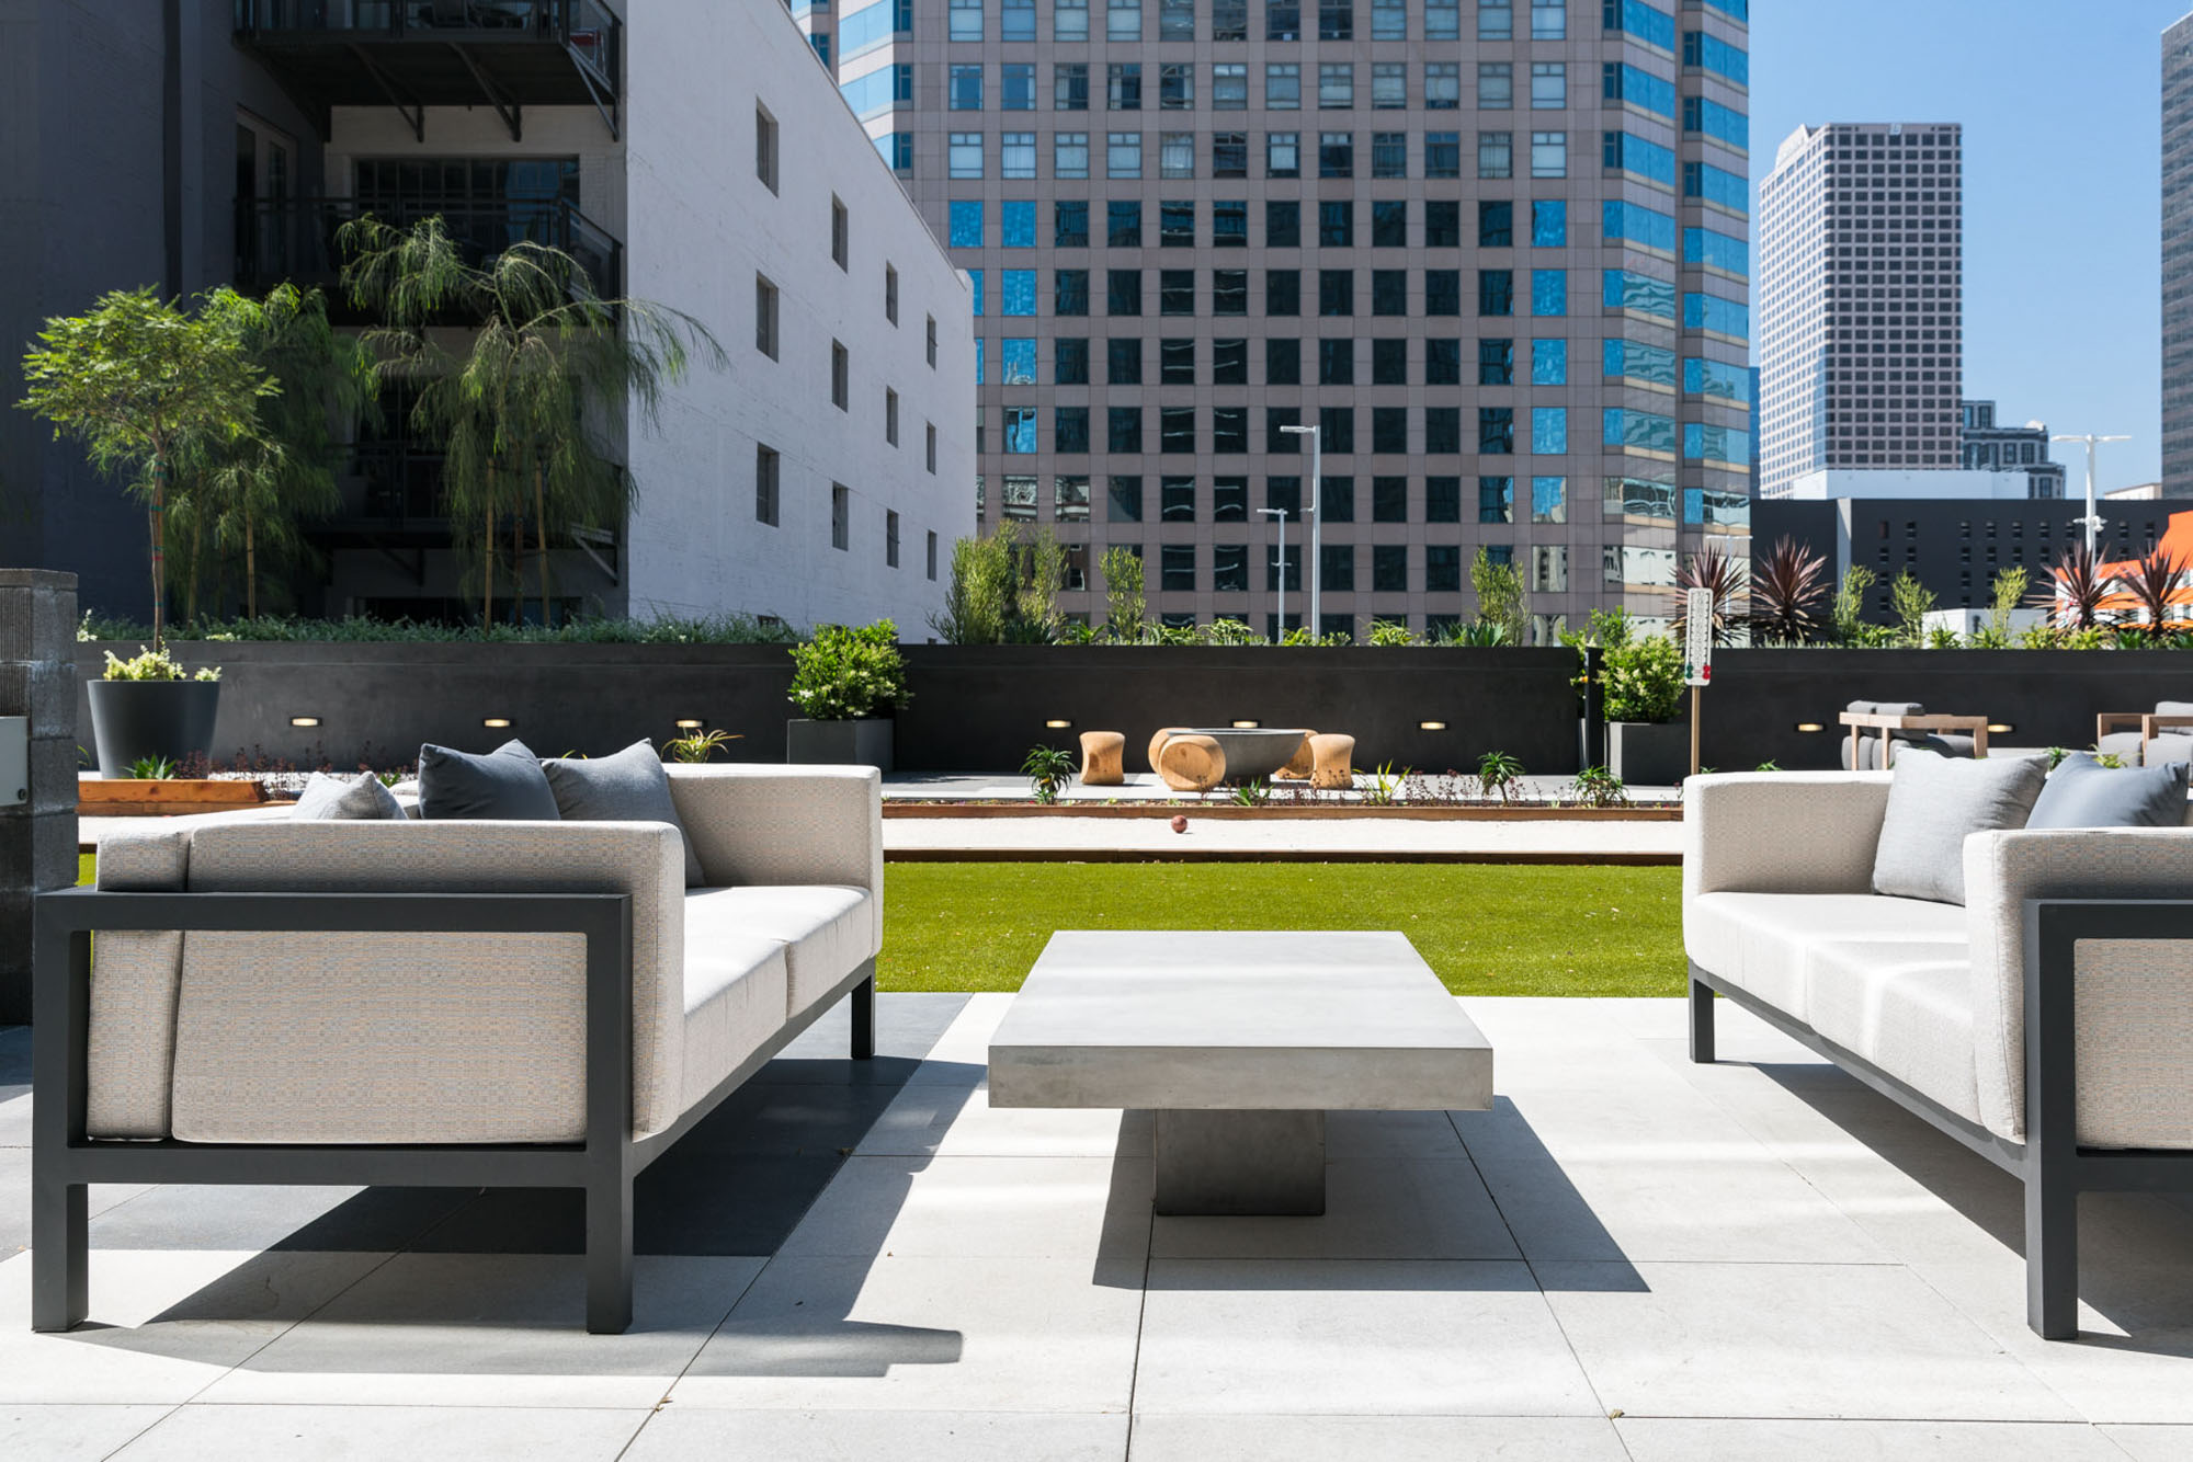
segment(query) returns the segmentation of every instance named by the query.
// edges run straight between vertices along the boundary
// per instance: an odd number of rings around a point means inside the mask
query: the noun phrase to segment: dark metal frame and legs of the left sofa
[[[86,1135],[94,929],[252,934],[581,934],[586,1135],[557,1144],[259,1144]],[[875,1054],[875,960],[761,1043],[671,1127],[632,1135],[632,899],[627,894],[123,894],[70,888],[33,903],[31,1328],[68,1330],[90,1304],[88,1184],[384,1184],[581,1188],[586,1328],[632,1326],[632,1181],[678,1138],[853,997],[853,1059]]]

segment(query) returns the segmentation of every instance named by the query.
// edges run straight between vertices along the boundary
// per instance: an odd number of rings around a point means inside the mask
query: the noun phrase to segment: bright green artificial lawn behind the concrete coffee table
[[[1018,991],[1053,929],[1401,929],[1456,995],[1680,995],[1686,973],[1680,868],[893,864],[875,982]]]

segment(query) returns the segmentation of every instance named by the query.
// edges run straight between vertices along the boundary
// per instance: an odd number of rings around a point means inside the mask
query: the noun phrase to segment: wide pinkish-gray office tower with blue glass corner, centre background
[[[1066,607],[1667,616],[1750,528],[1746,0],[840,0],[792,13],[978,281],[980,511]],[[1954,397],[1952,397],[1954,403]],[[1316,427],[1311,445],[1287,432]]]

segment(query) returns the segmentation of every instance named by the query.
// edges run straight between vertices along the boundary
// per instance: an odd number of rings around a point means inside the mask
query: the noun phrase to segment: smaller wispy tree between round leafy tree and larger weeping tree
[[[281,395],[261,401],[257,434],[193,441],[182,456],[175,526],[189,539],[186,605],[195,614],[206,579],[241,559],[243,614],[259,618],[261,555],[294,552],[298,522],[338,506],[338,425],[377,414],[379,370],[355,335],[336,331],[318,289],[279,285],[261,300],[224,287],[204,298],[200,318]]]

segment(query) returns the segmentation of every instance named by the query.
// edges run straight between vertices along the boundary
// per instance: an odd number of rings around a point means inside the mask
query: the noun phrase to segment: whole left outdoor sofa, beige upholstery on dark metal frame
[[[583,1188],[625,1330],[634,1177],[842,995],[875,1050],[879,774],[667,772],[691,888],[669,822],[211,815],[39,896],[33,1328],[110,1181]]]

